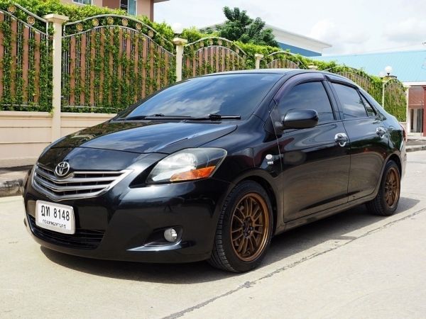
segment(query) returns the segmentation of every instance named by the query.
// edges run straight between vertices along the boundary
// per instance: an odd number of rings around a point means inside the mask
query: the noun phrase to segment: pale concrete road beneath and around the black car
[[[0,318],[426,318],[426,152],[395,216],[364,206],[275,237],[262,267],[153,265],[40,248],[0,199]]]

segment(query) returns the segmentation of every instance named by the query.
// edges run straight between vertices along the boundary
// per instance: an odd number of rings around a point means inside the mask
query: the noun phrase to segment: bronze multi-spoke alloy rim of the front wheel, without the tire
[[[231,218],[234,252],[244,262],[258,258],[268,243],[268,205],[256,193],[246,194],[236,205]]]

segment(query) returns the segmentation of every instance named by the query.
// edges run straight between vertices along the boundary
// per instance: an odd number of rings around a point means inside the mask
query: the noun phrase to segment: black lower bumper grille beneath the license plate
[[[35,225],[35,218],[33,218],[33,216],[28,215],[28,220],[34,235],[40,239],[45,240],[46,242],[51,242],[55,245],[82,250],[94,250],[97,248],[105,233],[103,230],[76,229],[75,234],[67,235],[38,227],[38,225]]]

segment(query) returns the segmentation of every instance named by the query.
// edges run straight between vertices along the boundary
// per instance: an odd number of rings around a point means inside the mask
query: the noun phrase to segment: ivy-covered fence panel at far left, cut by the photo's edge
[[[11,4],[0,9],[0,105],[50,111],[52,55],[48,22]]]

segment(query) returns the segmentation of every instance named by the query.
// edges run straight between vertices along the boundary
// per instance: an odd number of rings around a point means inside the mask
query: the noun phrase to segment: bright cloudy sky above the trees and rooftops
[[[223,22],[224,6],[331,44],[324,55],[426,50],[426,0],[170,0],[155,4],[154,17],[200,28]]]

